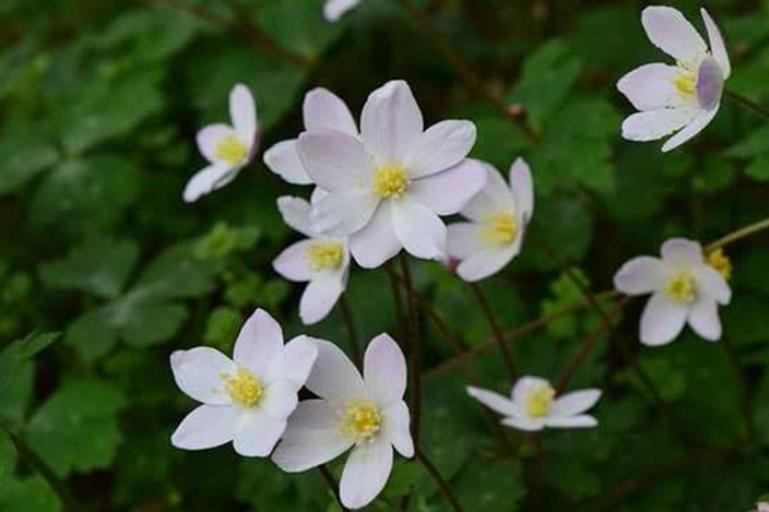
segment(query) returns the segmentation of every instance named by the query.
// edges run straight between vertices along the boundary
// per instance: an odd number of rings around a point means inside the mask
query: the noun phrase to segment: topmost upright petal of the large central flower
[[[372,92],[363,107],[360,134],[378,166],[403,163],[423,130],[419,106],[402,80]]]

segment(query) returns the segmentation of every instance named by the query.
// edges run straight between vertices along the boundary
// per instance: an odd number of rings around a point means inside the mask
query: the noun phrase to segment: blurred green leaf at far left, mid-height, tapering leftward
[[[115,298],[123,289],[138,257],[139,248],[131,240],[93,238],[72,248],[66,259],[44,264],[40,277],[51,287]]]

